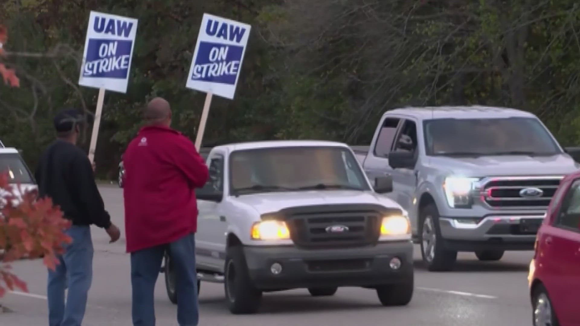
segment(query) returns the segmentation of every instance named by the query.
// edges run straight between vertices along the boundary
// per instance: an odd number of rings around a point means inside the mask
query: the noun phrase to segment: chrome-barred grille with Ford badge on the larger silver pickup
[[[561,179],[492,178],[483,186],[482,199],[494,208],[547,208]]]

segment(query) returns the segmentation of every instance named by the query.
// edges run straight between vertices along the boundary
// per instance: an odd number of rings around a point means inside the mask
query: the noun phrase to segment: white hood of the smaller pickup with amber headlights
[[[289,191],[240,195],[234,201],[248,205],[258,213],[277,212],[288,207],[332,204],[378,204],[387,208],[401,208],[393,200],[371,191],[324,190]]]

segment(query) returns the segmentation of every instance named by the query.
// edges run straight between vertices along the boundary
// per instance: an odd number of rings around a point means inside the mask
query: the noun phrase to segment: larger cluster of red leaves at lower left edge
[[[8,176],[0,173],[0,298],[6,289],[28,291],[26,283],[10,273],[6,263],[44,257],[44,264],[55,269],[63,245],[72,241],[64,233],[71,222],[50,199],[37,200],[36,191],[20,193],[14,188],[8,184]]]

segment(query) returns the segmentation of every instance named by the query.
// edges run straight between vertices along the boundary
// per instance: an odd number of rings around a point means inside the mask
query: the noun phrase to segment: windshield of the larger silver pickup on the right
[[[562,153],[536,118],[432,119],[423,126],[427,155]]]

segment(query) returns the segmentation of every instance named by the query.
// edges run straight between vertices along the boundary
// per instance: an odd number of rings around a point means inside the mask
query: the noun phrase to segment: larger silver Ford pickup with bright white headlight
[[[423,261],[452,270],[457,252],[499,260],[531,250],[554,191],[577,164],[533,114],[498,107],[387,111],[368,151],[369,179],[390,175]]]

